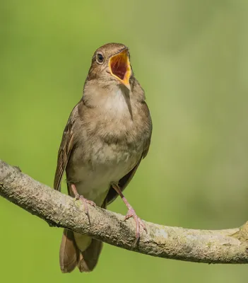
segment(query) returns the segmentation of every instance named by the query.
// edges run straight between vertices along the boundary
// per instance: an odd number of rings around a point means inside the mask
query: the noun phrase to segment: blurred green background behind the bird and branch
[[[195,229],[247,221],[248,2],[1,1],[0,158],[52,186],[93,52],[131,51],[153,139],[126,197],[141,218]],[[64,190],[65,192],[65,190]],[[109,209],[126,214],[122,200]],[[90,274],[59,270],[61,229],[0,198],[1,282],[247,282],[245,265],[152,258],[105,244]]]

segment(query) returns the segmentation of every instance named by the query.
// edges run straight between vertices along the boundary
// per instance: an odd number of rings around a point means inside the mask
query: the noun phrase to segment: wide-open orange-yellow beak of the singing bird
[[[128,50],[125,49],[110,58],[109,62],[110,74],[119,79],[126,88],[131,90],[129,78],[131,76],[131,66],[129,62]]]

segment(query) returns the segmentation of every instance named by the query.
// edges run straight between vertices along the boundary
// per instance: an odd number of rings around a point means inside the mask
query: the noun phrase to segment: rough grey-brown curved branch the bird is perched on
[[[83,205],[72,197],[33,180],[20,169],[0,161],[0,195],[50,226],[66,227],[113,246],[160,258],[206,263],[248,263],[248,222],[241,228],[193,230],[146,222],[135,243],[134,220],[100,207],[89,206],[90,224]]]

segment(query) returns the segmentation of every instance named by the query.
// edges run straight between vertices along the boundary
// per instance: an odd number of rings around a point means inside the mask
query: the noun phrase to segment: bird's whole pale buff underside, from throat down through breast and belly
[[[118,107],[117,107],[118,106]],[[76,125],[76,143],[66,170],[67,180],[96,204],[138,163],[148,137],[140,105],[114,93],[101,107],[88,108]]]

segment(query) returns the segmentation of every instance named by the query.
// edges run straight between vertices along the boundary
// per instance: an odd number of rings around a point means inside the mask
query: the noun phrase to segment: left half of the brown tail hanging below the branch
[[[59,265],[61,272],[67,273],[74,270],[78,263],[79,250],[76,246],[73,232],[64,229],[59,250]]]

